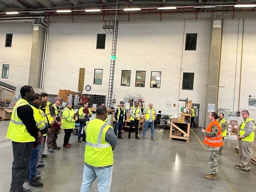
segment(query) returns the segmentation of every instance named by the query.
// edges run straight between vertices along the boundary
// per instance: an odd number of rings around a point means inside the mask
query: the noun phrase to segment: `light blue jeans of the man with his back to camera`
[[[109,192],[113,167],[95,169],[84,165],[83,181],[80,192],[90,192],[92,183],[98,178],[98,192]]]

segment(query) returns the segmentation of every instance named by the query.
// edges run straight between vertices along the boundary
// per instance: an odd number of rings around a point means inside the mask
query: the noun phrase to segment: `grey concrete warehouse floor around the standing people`
[[[12,148],[5,138],[8,121],[0,122],[0,192],[8,192],[11,178]],[[114,150],[114,166],[111,192],[252,192],[256,188],[256,165],[252,163],[250,174],[240,173],[234,168],[239,164],[234,150],[236,141],[225,140],[223,155],[219,157],[218,180],[206,180],[210,172],[206,146],[201,142],[201,129],[191,131],[190,142],[169,140],[170,130],[156,130],[155,139],[118,140]],[[141,137],[142,131],[139,136]],[[64,133],[57,140],[59,151],[47,153],[45,168],[41,171],[43,188],[31,188],[32,192],[80,192],[83,173],[84,142],[77,143],[72,135],[71,149],[63,149]],[[93,184],[92,192],[97,192]]]

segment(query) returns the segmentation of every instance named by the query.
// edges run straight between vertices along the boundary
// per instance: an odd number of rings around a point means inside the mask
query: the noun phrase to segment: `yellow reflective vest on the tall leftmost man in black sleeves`
[[[6,138],[19,143],[33,142],[35,141],[35,138],[28,133],[25,125],[17,115],[17,108],[23,105],[29,105],[29,103],[24,99],[19,99],[15,104],[12,110]]]

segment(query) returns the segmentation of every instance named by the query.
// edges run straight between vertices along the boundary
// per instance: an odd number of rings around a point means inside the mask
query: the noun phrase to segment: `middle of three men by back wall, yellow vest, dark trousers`
[[[138,130],[139,130],[139,121],[141,116],[141,109],[139,107],[138,101],[135,101],[134,105],[135,106],[132,106],[130,110],[130,127],[129,127],[128,139],[131,138],[132,127],[134,124],[135,124],[135,139],[140,139],[138,137]]]

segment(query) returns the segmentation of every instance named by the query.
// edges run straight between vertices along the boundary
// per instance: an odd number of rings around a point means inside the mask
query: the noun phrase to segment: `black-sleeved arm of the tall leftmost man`
[[[17,108],[17,116],[25,125],[28,133],[34,137],[38,137],[40,130],[36,127],[36,122],[33,116],[33,109],[29,105],[23,105]]]

